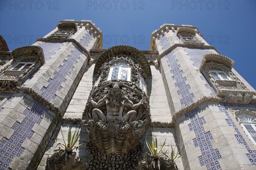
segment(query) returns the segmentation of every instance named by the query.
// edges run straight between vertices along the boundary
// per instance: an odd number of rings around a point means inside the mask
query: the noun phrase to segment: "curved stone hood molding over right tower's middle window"
[[[224,55],[219,55],[219,54],[205,54],[202,57],[200,66],[199,66],[199,71],[202,72],[203,67],[204,67],[204,63],[206,62],[210,62],[210,61],[214,61],[216,63],[220,63],[220,64],[224,64],[225,66],[227,66],[227,68],[232,69],[233,65],[235,63],[235,61],[233,61],[232,59],[224,56]]]

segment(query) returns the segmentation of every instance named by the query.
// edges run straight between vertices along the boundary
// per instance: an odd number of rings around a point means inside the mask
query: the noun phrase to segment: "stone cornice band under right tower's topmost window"
[[[162,57],[166,55],[166,53],[171,52],[177,47],[195,47],[195,48],[206,48],[206,49],[214,49],[216,52],[217,49],[215,49],[215,46],[206,46],[206,45],[201,45],[201,44],[180,44],[180,43],[175,43],[174,45],[170,46],[169,49],[166,49],[162,54],[158,55],[157,61],[159,62]]]

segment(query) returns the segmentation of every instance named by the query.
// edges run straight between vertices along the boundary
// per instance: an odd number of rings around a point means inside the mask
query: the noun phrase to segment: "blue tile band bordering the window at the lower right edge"
[[[227,125],[230,126],[230,127],[233,127],[235,132],[236,132],[234,135],[236,137],[237,142],[239,144],[244,145],[244,147],[248,150],[247,158],[249,159],[251,164],[256,165],[256,151],[250,149],[247,142],[245,141],[245,139],[241,135],[240,131],[238,130],[238,128],[234,124],[234,122],[233,122],[232,118],[230,117],[229,113],[227,112],[227,109],[229,107],[247,107],[249,109],[249,108],[256,107],[256,105],[255,104],[229,104],[229,103],[224,103],[224,102],[220,102],[219,104],[220,105],[218,106],[218,108],[219,108],[220,112],[227,116],[227,119],[226,119]]]

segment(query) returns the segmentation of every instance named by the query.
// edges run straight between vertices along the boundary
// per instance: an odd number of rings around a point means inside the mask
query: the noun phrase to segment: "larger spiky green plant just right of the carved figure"
[[[166,140],[165,140],[166,141]],[[164,145],[165,145],[165,141],[163,142],[163,145],[160,147],[159,150],[157,150],[157,137],[155,137],[155,139],[153,138],[153,140],[150,139],[150,141],[148,142],[148,140],[146,139],[146,144],[147,144],[147,147],[150,151],[151,154],[147,153],[146,154],[148,156],[150,156],[151,158],[154,158],[154,159],[157,159],[159,158],[160,156],[163,156],[164,153],[162,155],[159,155],[160,152],[162,151]]]

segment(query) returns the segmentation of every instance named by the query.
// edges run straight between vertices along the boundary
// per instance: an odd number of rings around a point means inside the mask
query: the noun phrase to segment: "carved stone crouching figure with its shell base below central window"
[[[145,134],[148,98],[140,88],[131,86],[126,81],[107,81],[90,94],[82,124],[90,131],[90,140],[97,150],[127,154]]]

